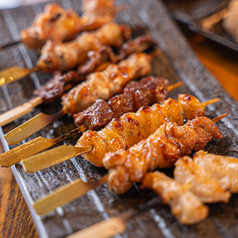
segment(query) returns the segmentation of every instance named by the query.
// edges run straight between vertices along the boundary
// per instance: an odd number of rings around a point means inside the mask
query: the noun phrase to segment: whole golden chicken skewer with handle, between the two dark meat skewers
[[[118,64],[110,64],[102,72],[88,75],[86,81],[71,89],[62,99],[61,111],[54,115],[40,113],[6,134],[6,140],[9,144],[17,144],[66,113],[73,115],[93,104],[98,98],[108,100],[121,93],[127,82],[149,74],[151,59],[145,53],[135,53]]]

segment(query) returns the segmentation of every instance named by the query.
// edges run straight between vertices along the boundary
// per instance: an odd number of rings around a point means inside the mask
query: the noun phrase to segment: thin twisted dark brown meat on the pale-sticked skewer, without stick
[[[132,44],[133,47],[128,51],[126,47],[123,47],[124,44],[128,47]],[[125,48],[126,52],[121,50],[121,54],[124,52],[123,57],[126,58],[132,53],[140,52],[140,48],[145,44],[147,46],[154,45],[154,42],[151,38],[142,36],[124,44],[122,47]],[[114,64],[118,63],[119,58],[120,60],[124,59],[122,55],[115,55],[112,49],[105,45],[102,45],[97,52],[89,51],[87,57],[88,60],[84,64],[81,64],[77,71],[71,70],[64,74],[60,71],[54,72],[52,79],[42,87],[36,89],[34,95],[41,97],[44,103],[51,103],[61,97],[64,91],[66,91],[66,88],[69,89],[81,83],[85,79],[85,75],[106,69],[110,62]]]

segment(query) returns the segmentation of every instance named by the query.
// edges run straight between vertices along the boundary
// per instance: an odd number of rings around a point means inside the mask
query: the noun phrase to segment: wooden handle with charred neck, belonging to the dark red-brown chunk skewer
[[[86,125],[82,125],[79,128],[76,128],[62,136],[47,139],[41,136],[35,138],[34,140],[28,141],[20,146],[17,146],[3,154],[0,155],[0,166],[9,167],[13,164],[20,162],[23,159],[26,159],[34,154],[41,152],[65,139],[68,139],[78,133],[87,130]],[[85,149],[86,150],[86,149]]]

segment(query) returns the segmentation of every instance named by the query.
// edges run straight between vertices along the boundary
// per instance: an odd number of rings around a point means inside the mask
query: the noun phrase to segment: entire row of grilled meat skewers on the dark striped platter
[[[165,78],[148,76],[153,57],[161,51],[142,51],[156,42],[148,36],[131,39],[129,26],[113,22],[116,12],[125,6],[116,8],[113,1],[103,0],[89,3],[83,1],[82,17],[50,4],[32,27],[22,32],[21,42],[40,50],[41,56],[33,69],[18,69],[14,80],[39,70],[54,76],[34,92],[35,98],[0,116],[4,125],[41,103],[61,98],[63,107],[58,113],[37,115],[9,132],[6,140],[17,144],[65,114],[73,116],[78,128],[54,139],[38,137],[15,147],[0,155],[0,165],[21,162],[26,172],[33,173],[82,154],[90,163],[108,170],[98,181],[76,179],[38,199],[33,206],[40,215],[105,182],[117,194],[141,183],[141,188],[150,188],[162,197],[182,224],[204,220],[208,208],[202,202],[226,203],[230,193],[237,192],[236,160],[202,151],[212,138],[222,138],[216,123],[226,114],[205,117],[205,107],[218,99],[199,102],[186,94],[177,100],[166,99],[181,83],[169,85]],[[75,38],[79,32],[83,33]],[[3,73],[2,85],[10,82],[9,71]],[[39,153],[81,132],[75,146],[62,145]],[[187,157],[193,151],[198,151],[194,160]],[[161,172],[150,172],[174,165],[174,180]]]

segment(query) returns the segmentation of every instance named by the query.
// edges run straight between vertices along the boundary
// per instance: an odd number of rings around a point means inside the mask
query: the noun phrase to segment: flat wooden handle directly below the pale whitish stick
[[[8,132],[4,137],[10,145],[15,145],[45,126],[49,125],[56,119],[65,115],[66,113],[67,111],[64,108],[52,115],[40,113],[37,116],[31,118],[29,121]]]

